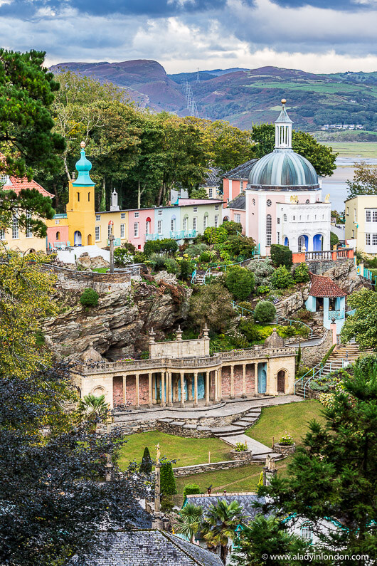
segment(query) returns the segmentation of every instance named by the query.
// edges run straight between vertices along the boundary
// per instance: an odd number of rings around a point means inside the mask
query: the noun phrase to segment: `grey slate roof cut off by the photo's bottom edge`
[[[85,566],[222,566],[220,557],[162,530],[103,533],[106,550]],[[74,560],[72,562],[75,564]]]

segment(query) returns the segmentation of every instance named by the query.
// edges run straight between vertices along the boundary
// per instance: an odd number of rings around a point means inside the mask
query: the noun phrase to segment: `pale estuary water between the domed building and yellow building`
[[[336,157],[336,169],[331,177],[322,179],[322,199],[330,194],[331,210],[344,211],[347,198],[347,180],[354,178],[355,164],[360,162],[377,166],[377,157]]]

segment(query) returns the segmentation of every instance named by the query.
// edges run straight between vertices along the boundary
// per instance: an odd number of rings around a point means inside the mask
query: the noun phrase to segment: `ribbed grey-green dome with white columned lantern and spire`
[[[312,164],[292,150],[292,120],[285,110],[275,120],[275,150],[261,157],[250,171],[251,189],[318,189],[318,177]]]

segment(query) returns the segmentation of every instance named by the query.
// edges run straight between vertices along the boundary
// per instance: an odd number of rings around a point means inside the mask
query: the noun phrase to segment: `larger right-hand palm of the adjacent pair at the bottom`
[[[236,529],[243,520],[243,508],[237,501],[226,503],[225,499],[208,508],[201,524],[201,535],[208,548],[220,546],[220,557],[223,563],[228,555],[229,539],[236,536]]]

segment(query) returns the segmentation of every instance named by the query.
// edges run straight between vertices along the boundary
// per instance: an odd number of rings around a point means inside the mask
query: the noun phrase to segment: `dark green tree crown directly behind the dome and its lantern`
[[[274,150],[275,126],[273,124],[253,126],[252,135],[257,144],[255,147],[257,157],[263,157]],[[334,153],[331,147],[321,145],[307,132],[292,130],[292,150],[305,157],[319,175],[332,175],[336,169],[337,153]]]

